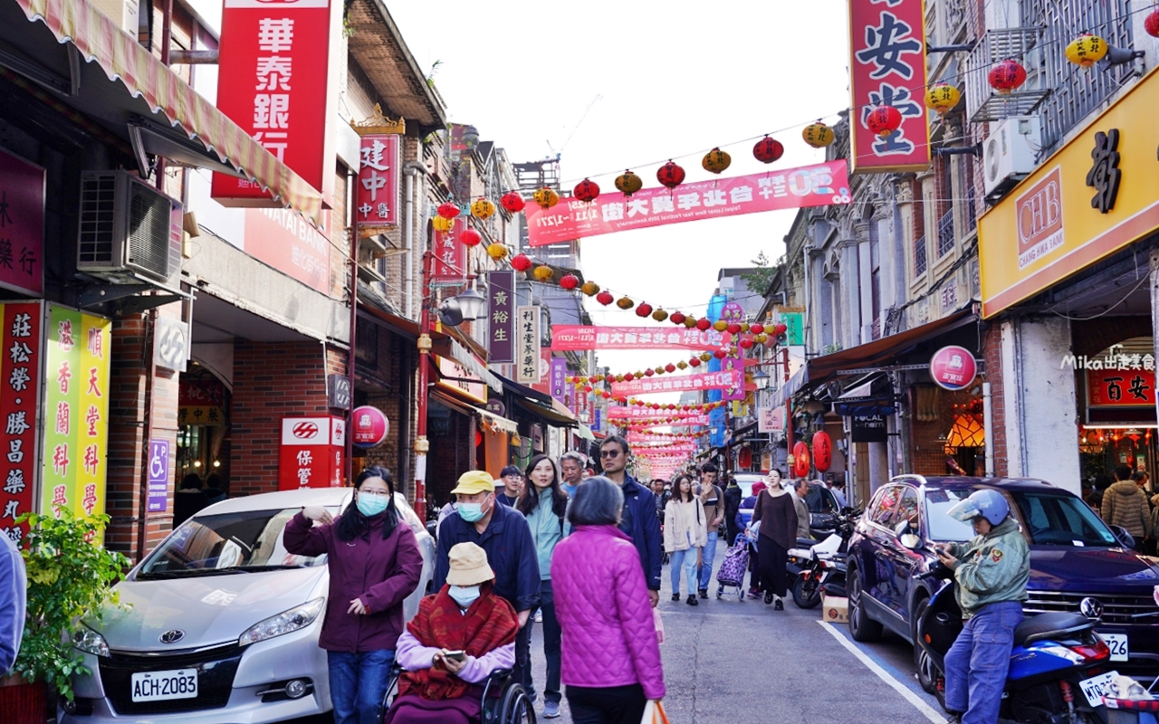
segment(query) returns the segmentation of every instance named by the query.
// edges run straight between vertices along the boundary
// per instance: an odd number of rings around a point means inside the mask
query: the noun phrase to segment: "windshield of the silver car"
[[[309,568],[326,556],[286,553],[282,533],[300,507],[197,515],[162,542],[138,579]],[[337,513],[337,509],[330,511]]]

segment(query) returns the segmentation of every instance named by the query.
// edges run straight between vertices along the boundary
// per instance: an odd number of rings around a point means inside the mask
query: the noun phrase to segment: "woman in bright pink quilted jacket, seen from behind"
[[[617,527],[620,487],[590,477],[567,519],[575,532],[555,547],[552,582],[563,631],[561,679],[575,724],[637,724],[664,697],[664,671],[640,554]]]

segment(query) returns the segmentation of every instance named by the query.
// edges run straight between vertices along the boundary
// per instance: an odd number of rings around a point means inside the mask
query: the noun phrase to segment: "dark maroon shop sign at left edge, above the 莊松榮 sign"
[[[44,169],[0,151],[0,287],[44,293]]]

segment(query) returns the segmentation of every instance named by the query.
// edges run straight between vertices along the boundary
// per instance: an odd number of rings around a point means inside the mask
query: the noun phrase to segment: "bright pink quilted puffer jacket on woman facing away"
[[[552,585],[563,630],[563,683],[639,683],[648,699],[663,699],[651,601],[632,539],[615,526],[580,526],[555,547]]]

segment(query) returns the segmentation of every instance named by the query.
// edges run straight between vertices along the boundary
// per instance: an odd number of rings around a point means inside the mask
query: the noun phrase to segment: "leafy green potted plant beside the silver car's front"
[[[95,541],[108,515],[76,518],[57,509],[56,515],[25,513],[28,610],[20,653],[9,675],[0,680],[0,722],[44,724],[48,692],[73,699],[72,675],[89,673],[72,646],[81,617],[100,620],[102,608],[119,605],[112,585],[122,580],[129,558]]]

